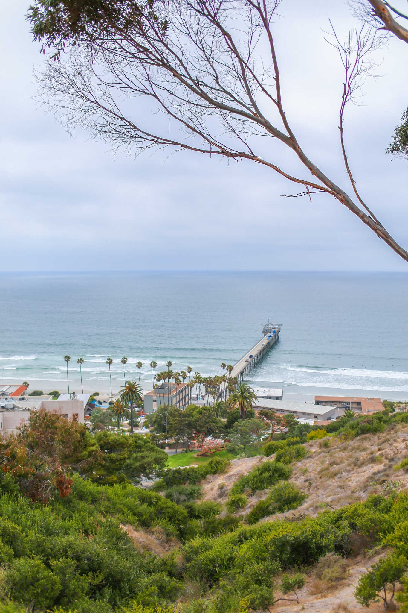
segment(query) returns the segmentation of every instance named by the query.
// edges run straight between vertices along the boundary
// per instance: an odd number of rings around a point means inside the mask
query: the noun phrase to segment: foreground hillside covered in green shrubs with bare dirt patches
[[[407,422],[166,470],[149,440],[40,413],[1,441],[0,611],[406,613]]]

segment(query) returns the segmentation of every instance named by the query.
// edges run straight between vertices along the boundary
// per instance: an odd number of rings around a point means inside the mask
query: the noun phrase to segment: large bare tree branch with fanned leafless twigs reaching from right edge
[[[344,45],[335,39],[346,71],[339,128],[354,202],[308,158],[287,119],[273,38],[277,7],[278,0],[178,0],[155,5],[143,27],[109,23],[91,42],[76,40],[59,61],[48,61],[38,75],[41,100],[67,129],[80,124],[114,150],[171,147],[262,164],[305,186],[300,194],[310,202],[310,194],[330,194],[408,261],[359,196],[344,147],[344,108],[373,67],[373,36],[362,28]],[[147,109],[156,113],[150,126]],[[313,180],[265,156],[262,139],[289,148]]]

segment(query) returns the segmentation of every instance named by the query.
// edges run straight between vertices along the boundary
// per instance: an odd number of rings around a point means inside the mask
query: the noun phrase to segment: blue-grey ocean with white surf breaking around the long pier
[[[31,389],[152,387],[151,360],[203,376],[234,364],[268,319],[281,340],[248,377],[287,399],[408,397],[408,274],[277,272],[0,273],[0,382]]]

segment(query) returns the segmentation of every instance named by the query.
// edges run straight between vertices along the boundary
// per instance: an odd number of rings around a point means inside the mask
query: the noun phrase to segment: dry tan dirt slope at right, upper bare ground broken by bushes
[[[299,509],[265,518],[278,519],[284,516],[316,515],[325,508],[339,508],[358,500],[365,500],[374,493],[390,489],[406,489],[408,472],[394,471],[393,467],[408,455],[408,424],[393,425],[386,432],[364,435],[352,441],[337,438],[324,448],[324,441],[306,443],[308,451],[300,462],[292,464],[291,481],[308,498]],[[269,459],[273,459],[271,456]],[[232,484],[241,474],[264,462],[264,457],[244,458],[231,461],[231,468],[224,474],[208,476],[203,483],[204,500],[225,502]],[[248,505],[239,514],[248,513],[267,495],[267,490],[256,492]]]

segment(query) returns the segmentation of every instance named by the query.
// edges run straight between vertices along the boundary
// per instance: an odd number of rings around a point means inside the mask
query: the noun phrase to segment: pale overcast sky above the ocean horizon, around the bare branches
[[[71,137],[32,99],[42,56],[28,4],[1,7],[0,270],[408,270],[336,200],[285,199],[296,189],[251,162],[114,158],[80,130]],[[287,115],[306,153],[350,192],[337,128],[343,75],[324,30],[330,17],[343,37],[357,21],[341,0],[283,0],[280,13]],[[346,112],[346,142],[363,197],[407,248],[408,161],[385,148],[408,104],[408,45],[391,39],[377,59],[381,76]],[[278,161],[290,171],[291,160]]]

